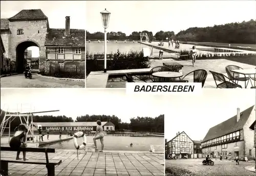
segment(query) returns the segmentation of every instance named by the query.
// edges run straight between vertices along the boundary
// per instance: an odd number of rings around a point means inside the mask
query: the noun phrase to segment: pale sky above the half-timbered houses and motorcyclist
[[[255,104],[255,90],[204,89],[198,97],[173,97],[165,113],[165,138],[173,139],[178,131],[192,140],[203,140],[213,127]]]

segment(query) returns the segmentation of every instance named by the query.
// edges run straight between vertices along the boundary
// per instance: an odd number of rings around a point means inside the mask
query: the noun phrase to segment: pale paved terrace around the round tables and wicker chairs
[[[205,59],[205,60],[196,60],[196,63],[193,67],[193,64],[191,60],[175,60],[175,59],[162,59],[162,60],[151,60],[151,68],[163,65],[163,63],[169,63],[169,62],[177,62],[182,64],[183,67],[183,75],[185,76],[191,71],[198,70],[198,69],[204,69],[207,71],[208,75],[206,78],[206,82],[204,84],[204,88],[215,88],[216,89],[216,83],[214,81],[214,78],[210,74],[209,70],[214,72],[219,72],[227,76],[225,67],[226,65],[238,65],[239,67],[243,69],[253,69],[255,68],[255,65],[245,64],[241,62],[231,61],[227,59]],[[109,71],[113,72],[113,71]],[[115,71],[118,72],[118,71]],[[90,74],[91,75],[91,74]],[[106,73],[103,72],[93,72],[91,76],[97,77],[95,79],[91,79],[90,75],[87,77],[87,88],[125,88],[126,82],[125,81],[115,81],[115,82],[108,82],[107,75],[108,71]],[[193,82],[193,75],[188,75],[186,80],[189,82]],[[244,88],[244,82],[240,81],[239,84]],[[249,83],[247,88],[250,89],[251,84]]]

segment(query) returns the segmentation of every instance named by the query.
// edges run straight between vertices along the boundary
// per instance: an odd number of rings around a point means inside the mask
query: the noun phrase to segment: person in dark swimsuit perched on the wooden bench
[[[18,150],[19,147],[27,147],[26,144],[26,139],[27,139],[27,132],[28,129],[26,128],[26,125],[24,124],[20,124],[15,128],[15,134],[12,137],[12,139],[10,140],[10,147],[11,148],[15,148]],[[19,158],[19,153],[20,151],[17,151],[17,156],[16,156],[16,160],[20,160],[21,158]],[[26,151],[23,151],[23,160],[26,161],[28,160],[26,158]]]

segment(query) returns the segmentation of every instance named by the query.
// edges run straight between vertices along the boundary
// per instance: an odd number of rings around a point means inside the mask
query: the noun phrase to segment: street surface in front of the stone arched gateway
[[[37,74],[33,74],[33,78],[28,79],[24,74],[18,74],[1,78],[1,87],[85,87],[85,83],[44,78]]]

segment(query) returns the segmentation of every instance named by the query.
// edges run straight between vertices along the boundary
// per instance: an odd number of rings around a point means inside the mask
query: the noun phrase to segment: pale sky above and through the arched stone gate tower
[[[25,9],[41,9],[50,28],[65,28],[65,17],[70,16],[71,29],[86,29],[86,1],[1,1],[1,18],[10,18]],[[39,56],[37,47],[29,50],[32,57]]]

